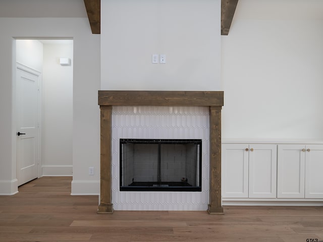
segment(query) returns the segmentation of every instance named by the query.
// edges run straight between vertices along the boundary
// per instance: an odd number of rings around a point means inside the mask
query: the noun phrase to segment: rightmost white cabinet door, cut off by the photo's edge
[[[305,149],[305,198],[323,198],[323,145]]]

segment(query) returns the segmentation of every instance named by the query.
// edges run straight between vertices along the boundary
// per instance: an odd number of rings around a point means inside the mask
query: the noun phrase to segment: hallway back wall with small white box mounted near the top
[[[42,175],[72,175],[73,40],[43,46]],[[71,65],[60,65],[60,57],[70,58]]]

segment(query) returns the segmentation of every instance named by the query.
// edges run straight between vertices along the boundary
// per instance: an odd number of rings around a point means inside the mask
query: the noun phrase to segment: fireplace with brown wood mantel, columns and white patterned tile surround
[[[98,103],[101,110],[98,213],[112,213],[114,208],[117,210],[204,210],[207,208],[210,214],[223,213],[221,206],[223,92],[99,91]],[[128,177],[127,184],[124,183],[125,176],[122,174],[124,171],[120,163],[123,148],[120,143],[126,140],[128,142],[136,140],[140,143],[147,139],[152,139],[153,142],[160,140],[159,143],[161,140],[164,142],[164,140],[174,139],[202,140],[201,145],[197,146],[197,149],[201,148],[201,158],[195,160],[198,163],[195,168],[199,168],[198,172],[194,172],[197,182],[193,186],[190,184],[197,191],[163,191],[167,185],[170,188],[172,184],[170,181],[167,181],[169,184],[163,184],[161,174],[159,184],[152,184],[154,188],[151,191],[123,190],[133,189],[129,185],[132,184],[132,178],[135,181],[135,177]],[[161,167],[156,172],[161,172]],[[182,173],[173,179],[177,181],[181,179],[178,182],[182,182],[183,179],[183,183],[187,179],[189,183],[192,178],[188,176]],[[136,189],[151,187],[149,184],[146,185],[134,187],[137,187]],[[179,186],[175,187],[178,189]],[[185,187],[189,189],[189,185]]]

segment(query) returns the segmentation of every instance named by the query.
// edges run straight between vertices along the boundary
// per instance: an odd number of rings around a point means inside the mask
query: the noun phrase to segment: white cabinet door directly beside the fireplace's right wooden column
[[[222,145],[223,198],[248,197],[248,153],[246,144]]]

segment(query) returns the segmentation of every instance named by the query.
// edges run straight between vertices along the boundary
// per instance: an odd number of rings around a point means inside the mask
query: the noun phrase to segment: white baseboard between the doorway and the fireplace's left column
[[[72,180],[72,196],[99,195],[100,180]]]

